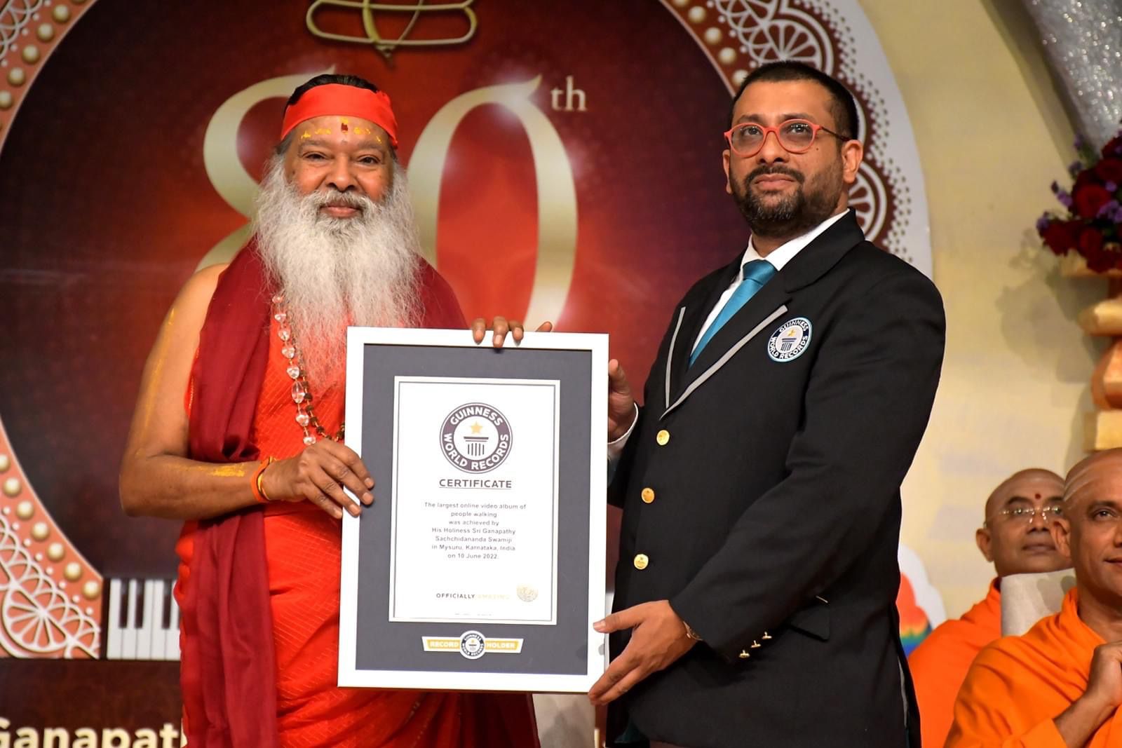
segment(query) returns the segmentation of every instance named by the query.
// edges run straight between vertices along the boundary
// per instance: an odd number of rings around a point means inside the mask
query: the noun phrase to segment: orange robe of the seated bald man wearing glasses
[[[1001,638],[1001,591],[990,593],[958,619],[940,624],[908,657],[919,701],[923,746],[941,748],[954,722],[955,696],[982,647]]]

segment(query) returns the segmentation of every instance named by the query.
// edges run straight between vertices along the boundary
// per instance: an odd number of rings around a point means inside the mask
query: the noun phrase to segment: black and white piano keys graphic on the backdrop
[[[172,580],[109,580],[105,659],[178,659],[180,607]]]

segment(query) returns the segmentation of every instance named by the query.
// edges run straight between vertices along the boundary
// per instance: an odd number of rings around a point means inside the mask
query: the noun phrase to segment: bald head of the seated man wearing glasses
[[[1019,470],[993,490],[975,539],[997,576],[1070,566],[1049,530],[1063,497],[1064,480],[1041,468]]]

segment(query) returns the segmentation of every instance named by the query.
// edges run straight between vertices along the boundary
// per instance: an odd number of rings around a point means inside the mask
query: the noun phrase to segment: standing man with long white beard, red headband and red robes
[[[420,257],[396,149],[375,85],[321,75],[296,89],[254,238],[187,281],[145,367],[121,502],[185,521],[192,748],[537,746],[525,694],[335,685],[340,519],[375,490],[341,443],[347,325],[465,326]],[[505,334],[496,318],[496,344]]]

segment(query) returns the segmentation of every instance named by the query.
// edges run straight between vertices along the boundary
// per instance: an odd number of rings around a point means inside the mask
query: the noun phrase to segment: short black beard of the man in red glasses
[[[793,194],[776,203],[766,204],[752,192],[752,181],[764,174],[789,176],[799,186]],[[807,192],[803,190],[807,177],[801,172],[784,166],[761,166],[744,177],[739,184],[733,183],[733,198],[753,234],[772,239],[798,237],[834,214],[838,197],[842,195],[842,187],[830,188],[831,176],[831,174],[821,175],[813,181],[811,190]],[[822,182],[827,184],[821,185]]]

